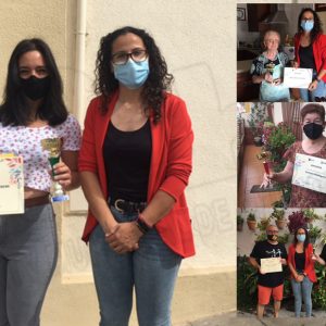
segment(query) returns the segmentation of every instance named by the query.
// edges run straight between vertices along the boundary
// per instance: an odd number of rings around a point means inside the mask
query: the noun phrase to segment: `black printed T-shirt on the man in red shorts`
[[[288,254],[283,243],[272,244],[267,240],[255,242],[250,256],[254,258],[259,264],[264,258],[287,259]],[[264,287],[274,288],[284,284],[284,272],[260,274],[258,284]]]

